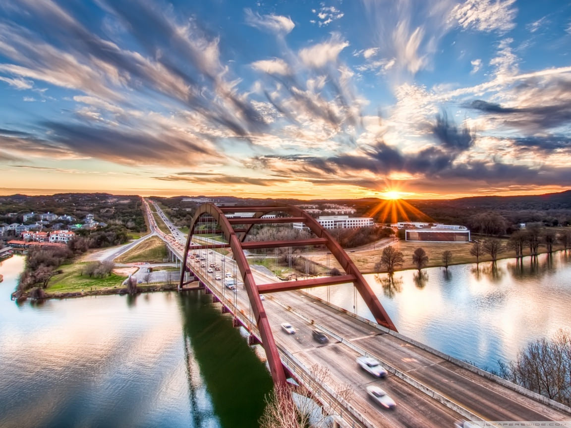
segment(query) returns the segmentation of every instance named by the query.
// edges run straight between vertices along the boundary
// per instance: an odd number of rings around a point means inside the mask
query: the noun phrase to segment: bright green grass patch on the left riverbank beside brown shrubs
[[[48,293],[69,293],[81,290],[101,289],[101,288],[114,288],[122,286],[125,280],[124,276],[119,276],[111,273],[110,276],[103,278],[94,278],[89,276],[81,276],[82,269],[85,268],[87,263],[73,263],[69,265],[62,265],[59,269],[63,273],[55,275],[48,283],[46,292]]]

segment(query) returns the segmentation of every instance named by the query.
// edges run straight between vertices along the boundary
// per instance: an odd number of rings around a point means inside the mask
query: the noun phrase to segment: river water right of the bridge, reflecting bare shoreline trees
[[[497,369],[530,341],[571,329],[571,253],[365,275],[400,333],[480,368]],[[327,300],[326,289],[311,291]],[[373,319],[351,285],[331,286],[337,306]]]

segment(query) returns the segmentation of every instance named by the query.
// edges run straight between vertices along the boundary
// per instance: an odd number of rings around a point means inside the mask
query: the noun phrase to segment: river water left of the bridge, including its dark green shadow
[[[0,266],[0,426],[257,426],[264,362],[191,292],[10,301],[23,258]]]

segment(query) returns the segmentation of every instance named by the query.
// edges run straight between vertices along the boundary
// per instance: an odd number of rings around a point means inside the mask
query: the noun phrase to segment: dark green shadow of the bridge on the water
[[[211,296],[202,290],[180,295],[191,418],[202,427],[212,417],[198,409],[203,384],[221,427],[258,427],[273,385],[270,372]]]

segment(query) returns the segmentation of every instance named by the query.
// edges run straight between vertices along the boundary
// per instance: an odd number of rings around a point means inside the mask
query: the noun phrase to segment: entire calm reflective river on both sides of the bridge
[[[23,258],[0,273],[0,426],[254,427],[271,389],[265,365],[211,297],[191,292],[10,301]],[[399,331],[496,369],[529,341],[571,328],[564,252],[367,275]],[[327,289],[314,293],[327,298]],[[352,286],[333,304],[371,314]]]

